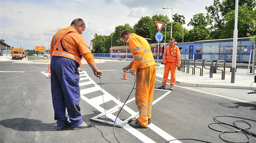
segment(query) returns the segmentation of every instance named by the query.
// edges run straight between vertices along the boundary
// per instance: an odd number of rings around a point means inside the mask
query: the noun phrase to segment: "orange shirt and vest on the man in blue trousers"
[[[81,63],[81,55],[91,53],[85,39],[73,27],[58,30],[53,36],[50,55],[73,59]]]

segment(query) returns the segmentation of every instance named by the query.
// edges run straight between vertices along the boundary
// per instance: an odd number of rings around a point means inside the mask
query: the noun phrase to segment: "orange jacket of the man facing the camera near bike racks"
[[[181,60],[180,60],[180,49],[178,46],[170,47],[167,46],[165,47],[165,53],[163,55],[163,63],[166,62],[177,62],[177,65],[180,65]]]

